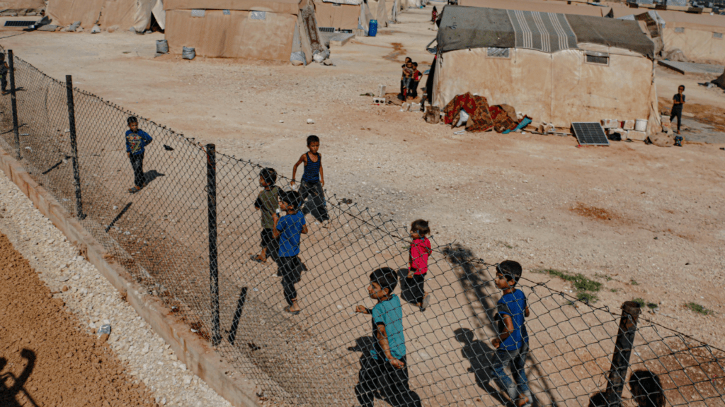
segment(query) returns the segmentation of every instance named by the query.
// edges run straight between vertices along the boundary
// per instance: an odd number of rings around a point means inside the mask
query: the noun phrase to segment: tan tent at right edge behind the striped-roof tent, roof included
[[[655,14],[660,19],[662,54],[682,51],[689,62],[725,65],[725,16],[657,10],[617,18],[641,19]]]

